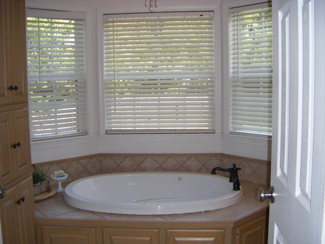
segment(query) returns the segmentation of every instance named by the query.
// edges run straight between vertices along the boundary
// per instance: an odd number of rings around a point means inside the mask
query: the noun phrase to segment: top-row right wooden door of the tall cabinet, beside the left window
[[[10,2],[9,9],[9,69],[11,103],[27,102],[27,64],[26,64],[26,24],[25,1],[5,0]],[[12,31],[14,30],[14,31]]]

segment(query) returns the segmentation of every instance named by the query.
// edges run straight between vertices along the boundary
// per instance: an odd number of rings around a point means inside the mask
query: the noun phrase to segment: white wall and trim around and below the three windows
[[[215,10],[216,32],[225,29],[221,25],[222,3],[234,6],[238,3],[246,5],[258,0],[158,0],[156,11],[188,11]],[[221,96],[227,94],[227,87],[220,82],[222,71],[222,48],[216,51],[217,84],[216,101],[217,114],[225,114],[222,118],[216,116],[216,134],[200,135],[105,135],[104,116],[101,108],[101,75],[98,47],[100,41],[97,29],[101,26],[102,13],[148,12],[144,6],[145,0],[34,0],[26,1],[26,7],[69,10],[86,12],[86,58],[87,58],[87,95],[88,95],[88,135],[34,141],[31,143],[32,163],[46,162],[98,153],[121,154],[177,154],[177,153],[224,153],[261,160],[270,160],[271,141],[268,138],[229,135],[228,134],[228,99]],[[225,8],[224,8],[225,9]],[[226,25],[225,25],[226,26]],[[225,34],[227,35],[227,34]],[[223,47],[220,35],[216,35],[216,47]],[[223,48],[224,49],[224,48]],[[99,99],[98,99],[99,98]]]

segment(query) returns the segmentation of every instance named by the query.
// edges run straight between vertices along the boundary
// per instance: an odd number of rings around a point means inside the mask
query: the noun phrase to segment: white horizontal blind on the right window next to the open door
[[[231,132],[272,135],[272,9],[231,13],[229,28]]]

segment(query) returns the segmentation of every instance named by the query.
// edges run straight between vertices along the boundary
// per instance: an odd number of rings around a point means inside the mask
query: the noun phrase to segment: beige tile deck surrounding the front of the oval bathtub
[[[66,204],[62,193],[35,202],[36,220],[46,219],[71,219],[71,220],[114,220],[114,221],[154,221],[154,222],[236,222],[250,216],[255,212],[268,211],[269,200],[259,202],[257,197],[258,189],[265,187],[250,182],[241,181],[243,189],[242,199],[235,205],[206,212],[180,215],[119,215],[106,214],[81,210]]]

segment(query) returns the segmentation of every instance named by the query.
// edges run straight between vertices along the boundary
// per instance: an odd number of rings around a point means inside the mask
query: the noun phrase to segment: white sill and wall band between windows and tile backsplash
[[[223,153],[270,160],[271,139],[226,134],[90,135],[31,142],[32,163],[92,154]]]

